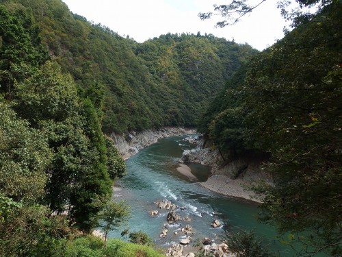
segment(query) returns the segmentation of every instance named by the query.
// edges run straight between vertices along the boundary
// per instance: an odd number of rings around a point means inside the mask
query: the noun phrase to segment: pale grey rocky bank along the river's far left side
[[[156,143],[159,138],[195,133],[196,130],[183,127],[166,127],[162,130],[146,130],[144,132],[131,131],[121,135],[111,134],[111,139],[114,140],[121,156],[124,159],[127,159],[134,154],[137,154],[140,149]]]

